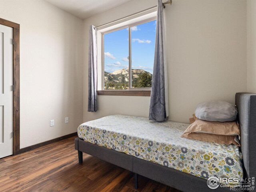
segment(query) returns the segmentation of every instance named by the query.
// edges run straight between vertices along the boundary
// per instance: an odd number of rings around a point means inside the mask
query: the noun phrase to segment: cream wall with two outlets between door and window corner
[[[42,0],[0,0],[0,18],[20,24],[20,147],[76,132],[82,20]]]

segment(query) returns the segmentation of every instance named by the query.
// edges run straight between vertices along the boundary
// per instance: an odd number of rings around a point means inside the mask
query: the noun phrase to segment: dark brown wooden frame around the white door
[[[20,24],[0,18],[0,24],[13,28],[13,155],[20,153]]]

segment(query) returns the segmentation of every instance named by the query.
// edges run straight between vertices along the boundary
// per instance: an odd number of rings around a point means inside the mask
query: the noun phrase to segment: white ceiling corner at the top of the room
[[[45,0],[46,2],[84,20],[110,10],[130,0]]]

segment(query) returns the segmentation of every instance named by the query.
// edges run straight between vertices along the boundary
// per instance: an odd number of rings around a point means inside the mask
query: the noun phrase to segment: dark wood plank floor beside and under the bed
[[[74,138],[0,159],[0,192],[180,192],[84,154],[78,164]]]

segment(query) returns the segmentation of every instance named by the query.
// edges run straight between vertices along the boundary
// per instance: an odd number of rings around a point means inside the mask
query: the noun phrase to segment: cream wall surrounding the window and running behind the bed
[[[87,112],[88,26],[98,26],[156,5],[132,0],[84,21],[84,121],[111,114],[148,116],[149,97],[98,96],[98,112]],[[170,120],[188,122],[196,104],[234,103],[246,92],[246,1],[173,0],[166,6]]]

